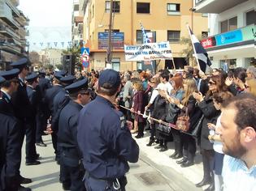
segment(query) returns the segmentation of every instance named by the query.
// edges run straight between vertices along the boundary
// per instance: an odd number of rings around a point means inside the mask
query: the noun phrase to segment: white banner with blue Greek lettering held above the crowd
[[[169,42],[147,43],[144,45],[124,45],[126,61],[171,60]]]

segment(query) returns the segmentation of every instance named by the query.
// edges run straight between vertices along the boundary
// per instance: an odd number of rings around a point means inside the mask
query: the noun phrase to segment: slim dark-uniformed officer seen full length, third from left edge
[[[38,90],[36,89],[38,84],[38,76],[36,73],[29,74],[26,77],[27,81],[27,93],[28,99],[30,102],[30,110],[31,110],[31,120],[30,125],[26,129],[26,165],[37,165],[40,164],[37,161],[37,151],[36,151],[36,129],[37,129],[37,108],[39,105],[39,101],[41,100],[40,94],[38,94]]]

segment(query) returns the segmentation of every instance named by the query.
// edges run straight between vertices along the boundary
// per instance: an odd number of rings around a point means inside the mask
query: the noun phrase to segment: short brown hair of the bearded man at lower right
[[[235,123],[238,129],[245,127],[253,127],[256,131],[256,97],[251,94],[241,94],[226,100],[223,103],[223,108],[236,108]]]

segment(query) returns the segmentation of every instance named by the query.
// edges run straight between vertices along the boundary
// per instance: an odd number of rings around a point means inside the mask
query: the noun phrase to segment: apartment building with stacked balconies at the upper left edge
[[[29,19],[20,11],[19,0],[0,0],[0,68],[28,57],[26,36]]]

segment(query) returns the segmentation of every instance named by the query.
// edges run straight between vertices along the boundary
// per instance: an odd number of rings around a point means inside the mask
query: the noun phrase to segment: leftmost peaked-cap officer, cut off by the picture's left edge
[[[23,134],[19,120],[15,117],[11,96],[19,87],[20,70],[1,71],[0,85],[0,190],[30,191],[20,185],[20,161]]]

